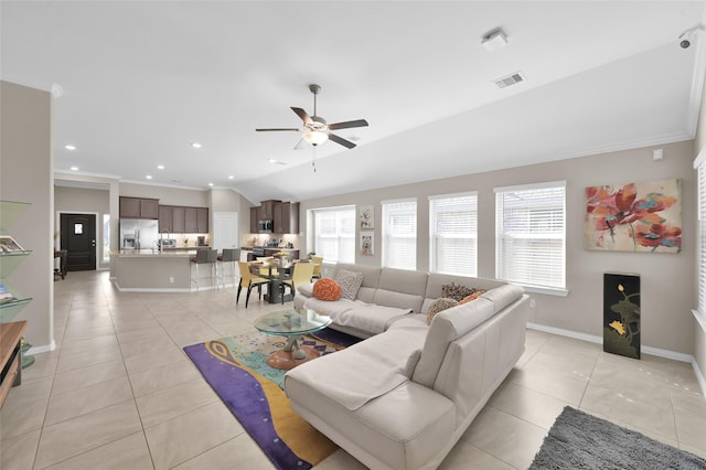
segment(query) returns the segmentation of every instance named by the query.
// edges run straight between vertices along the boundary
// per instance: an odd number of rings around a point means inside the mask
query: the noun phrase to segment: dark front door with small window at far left
[[[96,269],[96,215],[62,214],[62,249],[66,249],[66,270]]]

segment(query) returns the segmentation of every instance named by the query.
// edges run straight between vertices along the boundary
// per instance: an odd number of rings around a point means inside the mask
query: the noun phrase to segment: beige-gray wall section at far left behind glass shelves
[[[24,337],[49,348],[53,337],[52,96],[0,82],[0,200],[31,203],[8,232],[32,254],[7,279],[32,301],[14,320],[28,320]]]

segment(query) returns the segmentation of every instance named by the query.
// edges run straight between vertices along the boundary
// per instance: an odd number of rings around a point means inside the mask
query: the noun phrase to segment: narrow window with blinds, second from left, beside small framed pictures
[[[383,202],[384,267],[417,269],[417,201]]]

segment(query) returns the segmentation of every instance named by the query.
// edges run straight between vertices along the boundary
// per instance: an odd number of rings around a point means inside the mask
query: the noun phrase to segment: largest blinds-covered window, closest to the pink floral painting
[[[566,182],[495,189],[495,277],[566,289]]]

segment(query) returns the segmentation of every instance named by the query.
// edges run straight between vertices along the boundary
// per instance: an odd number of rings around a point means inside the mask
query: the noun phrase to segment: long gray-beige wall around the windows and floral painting
[[[653,161],[652,150],[664,149],[664,160]],[[375,256],[356,263],[379,265],[381,201],[417,197],[417,268],[428,270],[428,196],[463,191],[479,192],[479,277],[495,275],[495,212],[493,188],[545,181],[567,182],[567,297],[533,293],[536,309],[531,321],[542,325],[602,337],[602,274],[639,273],[642,276],[642,344],[684,354],[694,353],[696,305],[695,271],[696,174],[692,169],[694,142],[561,160],[480,174],[469,174],[375,191],[301,202],[307,210],[345,204],[375,206]],[[471,157],[469,157],[471,158]],[[325,175],[321,174],[321,178]],[[584,248],[584,189],[649,180],[682,179],[683,250],[680,254],[596,252]],[[307,224],[306,231],[309,231]],[[307,234],[309,235],[309,234]],[[307,236],[304,239],[308,239]],[[684,280],[684,281],[682,281]]]

